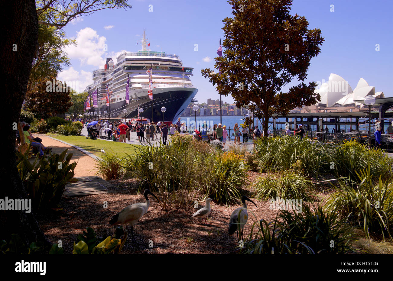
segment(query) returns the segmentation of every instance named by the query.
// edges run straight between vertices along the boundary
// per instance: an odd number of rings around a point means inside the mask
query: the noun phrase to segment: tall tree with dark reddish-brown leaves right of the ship
[[[225,18],[223,57],[215,68],[201,70],[219,94],[231,95],[237,107],[247,107],[264,119],[286,115],[292,108],[320,100],[316,83],[303,83],[310,60],[320,53],[324,39],[318,28],[308,29],[305,17],[290,15],[292,0],[229,0],[233,18]],[[281,89],[293,79],[299,83]]]

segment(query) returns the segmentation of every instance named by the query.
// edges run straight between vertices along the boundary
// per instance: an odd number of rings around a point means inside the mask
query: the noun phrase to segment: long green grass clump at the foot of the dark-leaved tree
[[[308,138],[292,136],[262,138],[255,144],[255,155],[259,160],[258,169],[284,171],[292,168],[298,160],[305,174],[324,172],[330,159],[326,148]]]

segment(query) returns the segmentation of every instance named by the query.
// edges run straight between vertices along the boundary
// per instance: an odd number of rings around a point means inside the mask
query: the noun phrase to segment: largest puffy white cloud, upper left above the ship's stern
[[[104,36],[99,36],[92,28],[84,28],[77,32],[76,46],[67,46],[65,52],[70,59],[79,59],[81,66],[92,65],[102,68],[105,64],[103,55],[110,50],[105,44]],[[115,48],[115,46],[113,46]],[[104,62],[104,63],[103,63]]]

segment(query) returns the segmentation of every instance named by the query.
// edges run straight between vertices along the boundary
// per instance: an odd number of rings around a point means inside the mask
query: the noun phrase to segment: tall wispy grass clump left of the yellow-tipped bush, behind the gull
[[[125,158],[125,178],[138,178],[139,191],[148,188],[160,195],[163,209],[187,208],[200,201],[200,186],[210,180],[212,157],[198,154],[177,143],[153,147],[143,146]]]

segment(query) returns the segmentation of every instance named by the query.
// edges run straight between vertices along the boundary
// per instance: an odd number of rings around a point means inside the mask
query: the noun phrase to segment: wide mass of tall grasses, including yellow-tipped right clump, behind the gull
[[[144,146],[125,158],[125,178],[138,178],[140,191],[162,197],[162,208],[187,208],[207,197],[230,204],[247,182],[244,158],[222,153],[208,144],[177,136],[168,145]]]

